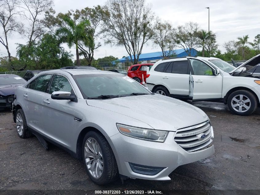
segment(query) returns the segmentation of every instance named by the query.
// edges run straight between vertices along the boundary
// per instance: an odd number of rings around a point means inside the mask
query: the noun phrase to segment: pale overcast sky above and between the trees
[[[54,9],[56,13],[67,12],[70,9],[82,9],[96,5],[104,5],[106,0],[54,0]],[[163,20],[169,20],[173,26],[183,25],[186,22],[197,22],[202,29],[208,29],[208,10],[210,7],[210,30],[217,33],[217,42],[220,44],[221,51],[225,51],[222,44],[226,41],[236,39],[239,36],[249,35],[249,41],[253,42],[254,37],[260,34],[260,2],[259,0],[146,0],[152,4],[152,12]],[[2,29],[1,29],[2,30]],[[2,32],[1,32],[2,33]],[[25,44],[21,36],[14,34],[9,38],[9,49],[12,56],[16,55],[15,43]],[[102,42],[102,40],[101,40]],[[69,49],[75,59],[75,48]],[[179,49],[179,48],[176,48]],[[154,48],[151,43],[143,47],[142,53],[160,51],[160,48]],[[0,46],[1,54],[5,56],[5,47]],[[99,47],[94,53],[94,58],[102,58],[105,55],[113,55],[119,59],[127,53],[123,47],[110,47],[104,45]]]

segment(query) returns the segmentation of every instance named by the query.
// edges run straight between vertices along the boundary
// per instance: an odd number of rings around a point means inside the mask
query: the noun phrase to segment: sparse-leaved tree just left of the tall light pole
[[[187,55],[191,55],[191,49],[198,47],[197,32],[198,23],[188,22],[184,26],[178,26],[174,33],[174,41],[178,47],[183,48]]]

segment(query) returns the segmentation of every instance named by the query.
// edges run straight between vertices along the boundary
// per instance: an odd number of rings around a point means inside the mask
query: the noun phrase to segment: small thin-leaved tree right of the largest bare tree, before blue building
[[[162,50],[162,57],[169,57],[174,55],[175,43],[174,43],[174,28],[168,21],[162,21],[156,18],[156,22],[153,26],[152,41],[155,46],[159,46]]]

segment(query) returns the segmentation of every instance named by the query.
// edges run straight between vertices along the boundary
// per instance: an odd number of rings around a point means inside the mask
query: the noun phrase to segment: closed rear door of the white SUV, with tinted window
[[[173,96],[188,97],[190,72],[187,60],[170,62],[162,75],[162,83]]]

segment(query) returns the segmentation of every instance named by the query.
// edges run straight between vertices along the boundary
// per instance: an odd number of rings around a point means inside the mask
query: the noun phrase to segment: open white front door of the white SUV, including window
[[[193,100],[218,99],[222,97],[223,77],[214,75],[214,68],[202,61],[187,57],[194,79]]]

